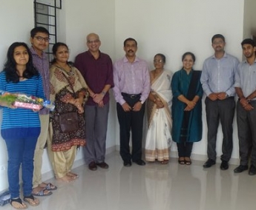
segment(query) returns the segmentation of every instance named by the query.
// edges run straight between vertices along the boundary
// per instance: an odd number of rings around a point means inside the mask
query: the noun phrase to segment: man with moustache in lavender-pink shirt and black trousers
[[[124,166],[131,160],[144,166],[142,160],[142,127],[145,100],[151,89],[148,65],[136,56],[137,41],[124,41],[125,57],[114,64],[114,97],[120,129],[120,155]],[[130,131],[132,152],[130,153]]]

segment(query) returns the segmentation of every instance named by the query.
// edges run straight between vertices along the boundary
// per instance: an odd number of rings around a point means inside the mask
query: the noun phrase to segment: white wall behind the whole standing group
[[[44,0],[48,1],[48,0]],[[246,11],[254,0],[245,0]],[[29,32],[33,28],[33,1],[0,0],[0,65],[4,64],[7,47],[13,41],[28,43]],[[226,36],[226,51],[242,58],[240,41],[250,34],[254,21],[245,14],[244,1],[234,0],[63,0],[59,14],[59,39],[70,47],[70,60],[86,50],[85,36],[98,33],[102,52],[111,55],[113,61],[124,55],[122,44],[125,38],[134,37],[139,44],[137,55],[145,58],[153,67],[152,60],[157,52],[167,57],[166,69],[173,72],[181,67],[181,55],[188,50],[195,53],[195,69],[201,70],[203,61],[209,57],[211,36],[222,33]],[[16,9],[19,8],[19,9]],[[252,7],[251,7],[252,8]],[[255,8],[255,7],[254,7]],[[16,10],[15,10],[16,9]],[[232,10],[232,11],[231,11]],[[250,10],[252,11],[252,10]],[[246,26],[243,28],[243,25]],[[203,112],[203,140],[194,146],[194,154],[206,155],[206,120]],[[116,121],[115,103],[112,97],[108,122],[107,148],[119,145],[119,125]],[[218,133],[217,154],[221,151],[221,132]],[[173,148],[175,150],[175,146]],[[234,123],[234,152],[238,158],[237,127]],[[76,160],[82,160],[79,152]],[[42,173],[50,171],[45,152]],[[0,167],[7,165],[4,140],[0,139]],[[0,168],[0,192],[7,188],[6,171]]]

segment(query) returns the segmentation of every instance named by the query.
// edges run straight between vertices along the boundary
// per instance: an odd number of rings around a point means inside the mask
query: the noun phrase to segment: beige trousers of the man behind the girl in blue
[[[34,172],[33,172],[33,188],[42,183],[42,155],[47,140],[49,115],[39,115],[41,123],[41,132],[37,139],[36,149],[34,154]]]

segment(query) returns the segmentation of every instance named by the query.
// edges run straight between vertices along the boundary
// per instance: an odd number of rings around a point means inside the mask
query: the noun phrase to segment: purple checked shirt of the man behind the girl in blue
[[[30,47],[30,52],[33,57],[33,66],[39,71],[42,76],[42,84],[47,100],[50,100],[50,68],[49,61],[45,52],[42,52],[42,57],[37,55],[36,50]],[[41,109],[39,115],[48,115],[49,109]]]

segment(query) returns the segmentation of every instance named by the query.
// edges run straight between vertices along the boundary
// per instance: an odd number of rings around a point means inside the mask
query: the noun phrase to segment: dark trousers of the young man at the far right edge
[[[256,166],[256,101],[252,101],[255,109],[246,111],[237,102],[237,129],[239,139],[240,165],[248,165],[251,155],[251,163]]]

